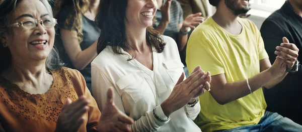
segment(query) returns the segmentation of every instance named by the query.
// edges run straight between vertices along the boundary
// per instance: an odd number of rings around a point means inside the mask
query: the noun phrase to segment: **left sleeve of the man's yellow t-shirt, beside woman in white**
[[[205,72],[209,71],[211,75],[224,73],[221,63],[221,57],[218,54],[218,44],[214,38],[205,34],[202,29],[195,31],[189,39],[187,46],[186,63],[191,73],[195,67],[201,66]]]

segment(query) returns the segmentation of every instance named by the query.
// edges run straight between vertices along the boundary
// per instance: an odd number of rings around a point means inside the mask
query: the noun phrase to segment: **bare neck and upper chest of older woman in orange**
[[[49,74],[46,72],[45,61],[17,61],[12,60],[12,64],[3,72],[3,76],[11,82],[36,82],[33,80],[48,79]]]

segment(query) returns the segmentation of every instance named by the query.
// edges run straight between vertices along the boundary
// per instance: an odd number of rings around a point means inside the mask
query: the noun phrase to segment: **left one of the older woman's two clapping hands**
[[[79,97],[79,99],[73,103],[67,98],[58,117],[55,132],[78,131],[85,119],[83,115],[89,109],[88,103],[89,100],[86,99],[85,96]]]

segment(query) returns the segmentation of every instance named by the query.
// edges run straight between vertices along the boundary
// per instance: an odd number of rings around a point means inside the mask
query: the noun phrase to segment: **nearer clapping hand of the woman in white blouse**
[[[195,72],[194,72],[195,71]],[[184,73],[180,76],[170,96],[161,104],[161,107],[167,117],[171,113],[186,105],[198,93],[203,94],[206,79],[203,79],[204,72],[200,67],[196,67],[193,73],[184,79]]]

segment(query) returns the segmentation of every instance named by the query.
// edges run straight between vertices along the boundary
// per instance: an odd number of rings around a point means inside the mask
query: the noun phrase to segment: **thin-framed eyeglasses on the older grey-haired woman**
[[[32,20],[24,20],[22,22],[19,23],[14,23],[9,25],[9,27],[23,27],[23,28],[27,28],[27,29],[33,29],[36,28],[38,26],[38,22],[44,27],[44,28],[52,28],[57,24],[57,20],[54,18],[46,18],[46,19],[42,19],[42,20],[36,20],[36,19],[32,19]]]

